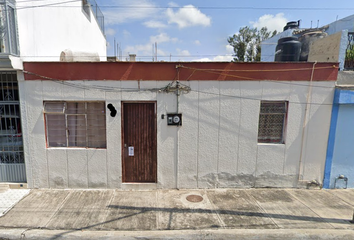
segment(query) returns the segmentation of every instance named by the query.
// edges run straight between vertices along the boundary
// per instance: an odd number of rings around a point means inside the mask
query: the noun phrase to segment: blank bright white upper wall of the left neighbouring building
[[[60,3],[49,7],[35,7]],[[95,17],[88,18],[81,1],[22,1],[17,3],[21,58],[24,61],[59,61],[65,49],[96,52],[107,60],[106,39]]]

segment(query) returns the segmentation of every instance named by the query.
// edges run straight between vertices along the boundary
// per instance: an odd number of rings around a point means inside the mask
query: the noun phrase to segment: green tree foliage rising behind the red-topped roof
[[[229,37],[227,41],[234,48],[234,62],[254,62],[261,60],[261,42],[277,34],[268,31],[267,27],[243,27],[239,32]]]

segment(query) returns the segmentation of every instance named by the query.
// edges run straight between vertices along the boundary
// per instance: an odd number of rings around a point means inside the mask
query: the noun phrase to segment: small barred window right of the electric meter
[[[287,101],[261,101],[258,125],[259,143],[285,143]]]

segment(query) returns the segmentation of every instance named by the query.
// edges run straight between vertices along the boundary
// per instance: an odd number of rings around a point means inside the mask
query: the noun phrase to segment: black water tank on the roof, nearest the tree
[[[297,37],[285,37],[278,40],[274,61],[298,62],[300,60],[301,43]]]

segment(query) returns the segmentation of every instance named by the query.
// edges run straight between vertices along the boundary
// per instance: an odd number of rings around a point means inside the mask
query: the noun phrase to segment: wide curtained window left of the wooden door
[[[44,102],[48,147],[106,148],[104,102]]]

